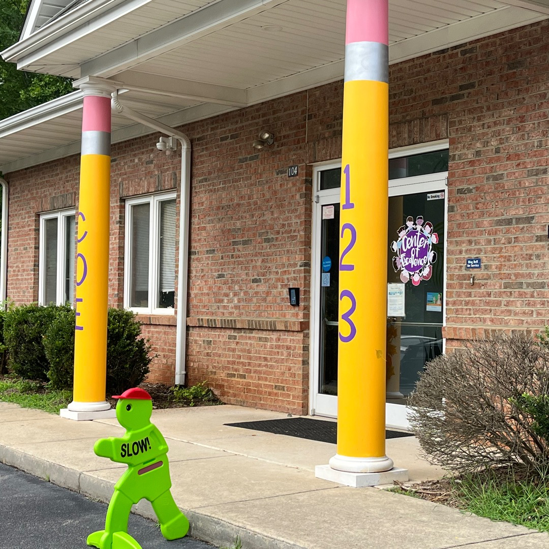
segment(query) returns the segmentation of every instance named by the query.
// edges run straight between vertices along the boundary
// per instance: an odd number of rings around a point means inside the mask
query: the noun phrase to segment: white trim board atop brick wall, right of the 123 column
[[[390,44],[389,64],[400,63],[407,59],[436,52],[439,49],[457,46],[547,18],[547,15],[533,13],[514,6],[498,8],[492,12],[476,15],[465,21],[452,23],[440,27],[440,29]]]

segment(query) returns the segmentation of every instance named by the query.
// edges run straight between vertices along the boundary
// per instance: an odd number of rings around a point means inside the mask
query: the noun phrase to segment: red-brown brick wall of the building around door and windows
[[[449,346],[478,328],[541,327],[549,313],[549,24],[390,69],[390,146],[450,140]],[[341,155],[343,85],[330,83],[183,127],[193,144],[188,380],[227,402],[292,413],[309,401],[311,163]],[[260,130],[275,143],[257,151]],[[122,305],[124,198],[179,188],[158,136],[113,146],[109,299]],[[37,212],[77,200],[77,156],[11,173],[8,295],[37,299]],[[288,178],[287,167],[299,166]],[[179,199],[179,198],[178,198]],[[76,204],[77,206],[77,204]],[[469,282],[466,256],[483,268]],[[287,288],[301,288],[291,307]],[[175,318],[144,317],[173,383]],[[477,331],[475,331],[477,330]]]

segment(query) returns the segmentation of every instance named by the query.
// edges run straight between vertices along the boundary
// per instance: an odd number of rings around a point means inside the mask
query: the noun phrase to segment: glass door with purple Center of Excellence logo
[[[442,354],[445,180],[389,189],[386,424],[408,428],[406,402]]]

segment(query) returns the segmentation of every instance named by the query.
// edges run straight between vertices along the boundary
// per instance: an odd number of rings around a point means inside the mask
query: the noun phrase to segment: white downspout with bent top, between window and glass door
[[[181,198],[179,216],[179,272],[177,276],[177,326],[175,349],[175,384],[185,383],[185,363],[187,347],[187,287],[189,262],[189,199],[191,197],[191,140],[182,132],[162,124],[148,116],[128,109],[120,103],[117,93],[113,93],[111,107],[114,111],[128,118],[141,122],[167,136],[175,137],[181,143]],[[181,238],[181,235],[184,238]]]

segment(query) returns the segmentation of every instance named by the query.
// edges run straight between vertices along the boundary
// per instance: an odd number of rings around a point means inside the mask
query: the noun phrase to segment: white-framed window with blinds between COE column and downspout
[[[126,201],[124,306],[170,314],[175,306],[176,196]]]

